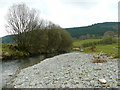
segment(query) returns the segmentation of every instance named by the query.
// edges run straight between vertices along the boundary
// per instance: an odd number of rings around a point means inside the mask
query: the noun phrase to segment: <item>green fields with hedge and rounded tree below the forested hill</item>
[[[119,42],[120,38],[113,31],[104,33],[102,39],[86,39],[76,40],[73,42],[73,47],[84,49],[85,53],[106,53],[108,56],[119,58]]]

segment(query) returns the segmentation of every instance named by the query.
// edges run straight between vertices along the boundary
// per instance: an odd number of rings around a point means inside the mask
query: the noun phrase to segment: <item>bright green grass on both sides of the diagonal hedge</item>
[[[91,43],[91,42],[97,42],[100,41],[102,39],[87,39],[87,40],[78,40],[78,41],[74,41],[73,42],[73,47],[80,47],[82,44],[85,43]],[[95,47],[95,51],[90,50],[92,46],[89,47],[83,47],[84,52],[85,53],[107,53],[108,56],[113,56],[114,58],[119,58],[120,55],[118,53],[118,44],[117,43],[113,43],[113,44],[98,44]]]

